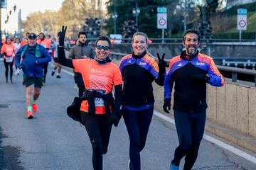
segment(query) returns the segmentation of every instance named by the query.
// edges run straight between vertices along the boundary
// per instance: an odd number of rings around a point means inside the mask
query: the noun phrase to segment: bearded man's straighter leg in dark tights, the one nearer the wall
[[[193,164],[196,162],[198,157],[198,149],[203,139],[204,128],[206,125],[206,111],[200,113],[193,113],[192,118],[192,127],[191,127],[191,137],[192,137],[192,146],[188,154],[185,157],[185,170],[190,170],[193,167]]]

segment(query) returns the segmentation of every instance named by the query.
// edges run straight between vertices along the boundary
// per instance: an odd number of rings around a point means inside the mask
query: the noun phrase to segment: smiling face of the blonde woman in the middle
[[[148,47],[146,42],[146,37],[143,35],[135,35],[132,40],[132,49],[134,51],[134,55],[142,55],[142,53]]]

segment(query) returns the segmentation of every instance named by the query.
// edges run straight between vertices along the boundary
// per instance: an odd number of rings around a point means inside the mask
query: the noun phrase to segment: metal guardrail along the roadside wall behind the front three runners
[[[125,53],[122,53],[122,52],[110,52],[110,55],[125,56],[125,55],[128,55],[128,54],[125,54]],[[119,57],[117,57],[117,58],[119,58]],[[154,58],[157,59],[156,57],[154,57]],[[164,60],[168,63],[170,61],[170,59],[164,59]],[[227,67],[227,66],[221,66],[221,65],[216,65],[216,67],[219,70],[222,70],[222,71],[225,71],[225,72],[231,72],[232,73],[232,82],[237,82],[238,81],[238,73],[252,75],[252,76],[254,76],[255,86],[256,86],[256,70],[254,70],[254,69],[241,69],[241,68],[237,68],[237,67]]]

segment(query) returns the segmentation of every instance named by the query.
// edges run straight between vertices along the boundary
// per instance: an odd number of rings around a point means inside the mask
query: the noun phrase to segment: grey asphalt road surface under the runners
[[[73,89],[73,77],[62,72],[62,78],[56,79],[50,72],[51,67],[38,99],[38,113],[28,120],[22,75],[14,75],[14,84],[6,84],[0,62],[0,169],[92,169],[92,149],[85,128],[65,113],[78,94]],[[141,153],[142,169],[169,169],[177,145],[174,124],[154,115]],[[255,157],[255,153],[246,152]],[[128,169],[128,160],[129,138],[121,120],[117,128],[112,128],[104,169]],[[256,162],[203,140],[193,169],[256,169]]]

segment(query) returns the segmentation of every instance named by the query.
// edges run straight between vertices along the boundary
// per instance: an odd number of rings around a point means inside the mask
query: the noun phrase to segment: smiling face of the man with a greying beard
[[[185,40],[182,42],[186,48],[186,55],[196,55],[199,47],[198,35],[195,33],[188,33],[185,36]]]

